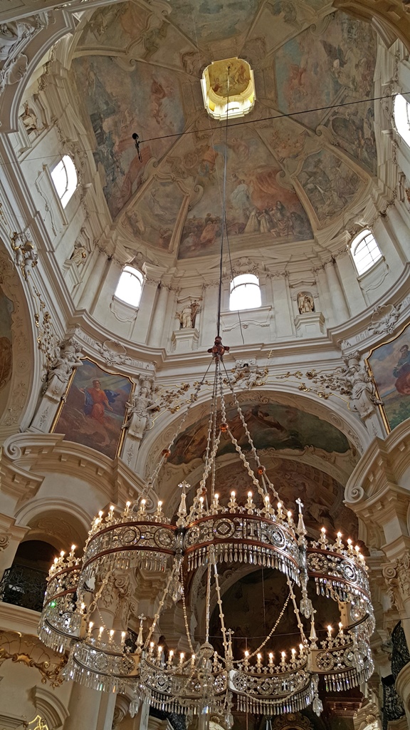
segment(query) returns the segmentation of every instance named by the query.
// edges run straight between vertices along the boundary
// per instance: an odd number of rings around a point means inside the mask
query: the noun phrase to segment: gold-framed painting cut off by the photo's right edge
[[[410,418],[410,325],[389,342],[374,347],[366,362],[374,377],[387,429]]]

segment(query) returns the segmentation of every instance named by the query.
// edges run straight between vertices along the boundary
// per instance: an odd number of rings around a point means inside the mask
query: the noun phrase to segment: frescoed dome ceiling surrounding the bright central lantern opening
[[[252,66],[257,100],[226,143],[200,79],[233,56]],[[71,73],[125,245],[170,259],[216,253],[225,150],[231,250],[312,239],[376,173],[363,103],[375,61],[371,27],[322,0],[156,0],[88,15]]]

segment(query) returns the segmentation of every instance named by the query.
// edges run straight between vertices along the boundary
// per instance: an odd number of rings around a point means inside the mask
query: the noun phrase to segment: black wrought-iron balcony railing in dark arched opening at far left
[[[47,573],[24,565],[12,565],[0,581],[0,601],[41,611],[47,587]]]

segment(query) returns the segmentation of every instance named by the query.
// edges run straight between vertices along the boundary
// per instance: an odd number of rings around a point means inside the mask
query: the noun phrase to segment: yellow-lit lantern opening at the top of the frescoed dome
[[[213,119],[244,117],[254,107],[253,71],[242,58],[226,58],[206,66],[201,87],[205,109]]]

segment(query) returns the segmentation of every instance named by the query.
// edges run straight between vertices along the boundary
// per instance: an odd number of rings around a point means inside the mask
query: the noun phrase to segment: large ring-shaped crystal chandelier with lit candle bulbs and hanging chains
[[[322,528],[319,539],[308,539],[300,499],[296,500],[298,515],[285,509],[252,442],[225,370],[220,337],[210,351],[214,387],[204,471],[195,496],[190,495],[189,484],[180,485],[174,523],[163,512],[161,501],[155,509],[150,500],[186,414],[147,480],[145,493],[136,502],[128,502],[122,512],[114,505],[107,515],[99,512],[82,558],[74,555],[74,546],[67,556],[61,553],[55,558],[39,636],[50,648],[69,653],[66,680],[104,691],[134,691],[132,714],[140,702],[147,702],[166,712],[217,715],[228,729],[233,723],[233,707],[276,715],[312,704],[320,715],[319,694],[357,687],[373,672],[369,642],[374,616],[365,560],[351,540],[346,545],[342,542],[341,533],[330,538]],[[203,383],[196,386],[191,404]],[[228,422],[227,389],[247,437],[246,450]],[[252,486],[244,495],[232,491],[223,504],[216,491],[216,459],[221,439],[227,438]],[[256,650],[245,651],[239,658],[233,651],[233,631],[225,624],[219,564],[233,568],[247,564],[250,570],[279,572],[287,584],[287,597],[277,621]],[[139,615],[139,631],[131,642],[128,626],[121,625],[121,617],[128,616],[129,611],[109,614],[105,598],[113,580],[121,585],[124,576],[135,575],[138,570],[162,577],[163,587],[155,600],[152,620]],[[204,636],[194,646],[187,585],[198,570],[206,575],[206,618]],[[209,631],[213,591],[222,651],[217,642],[212,643]],[[160,635],[161,614],[171,599],[182,602],[189,653],[165,650],[155,642]],[[193,596],[189,599],[192,607]],[[119,601],[129,605],[129,594],[124,592]],[[340,621],[338,626],[333,621],[328,635],[320,639],[315,613],[320,602],[326,610],[329,601],[339,607]],[[280,637],[275,636],[285,611],[293,612],[299,634],[295,648],[286,651],[281,650]]]

